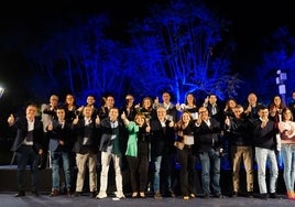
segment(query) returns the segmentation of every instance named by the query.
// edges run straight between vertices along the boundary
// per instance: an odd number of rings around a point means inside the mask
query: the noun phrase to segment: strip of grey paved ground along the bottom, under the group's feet
[[[130,198],[128,197],[120,200],[113,200],[113,196],[110,196],[105,199],[95,199],[90,198],[88,194],[84,194],[80,197],[67,197],[67,196],[57,196],[50,197],[47,195],[41,195],[39,197],[32,196],[30,193],[26,193],[24,197],[13,197],[14,193],[0,193],[0,207],[176,207],[176,206],[210,206],[210,207],[250,207],[250,206],[262,206],[262,207],[291,207],[295,206],[295,201],[288,200],[285,196],[282,196],[281,199],[269,198],[266,200],[260,198],[247,198],[247,197],[225,197],[220,198],[209,198],[205,199],[201,196],[197,198],[183,200],[181,197],[170,198],[164,197],[161,200],[156,200],[153,197],[142,198]]]

